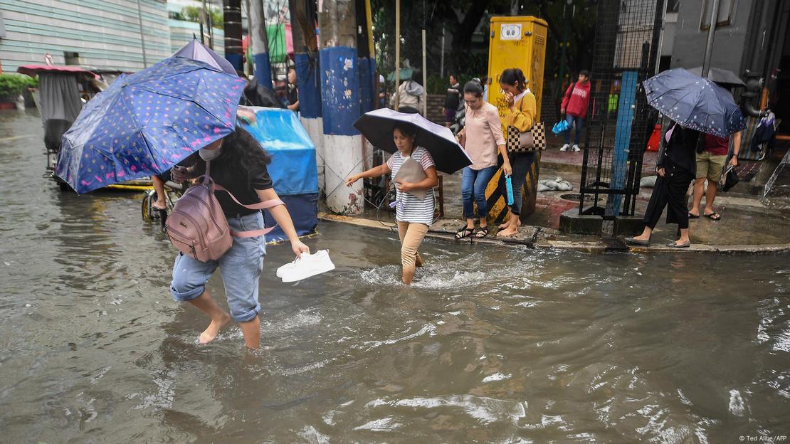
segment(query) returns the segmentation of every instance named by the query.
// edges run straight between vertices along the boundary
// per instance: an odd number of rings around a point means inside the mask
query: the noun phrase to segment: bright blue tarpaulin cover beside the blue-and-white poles
[[[318,167],[315,146],[296,114],[287,109],[247,107],[255,111],[255,122],[244,124],[272,156],[269,175],[274,190],[288,207],[298,235],[308,235],[318,225]],[[275,224],[265,213],[267,227]],[[285,239],[280,228],[266,235],[266,241]]]

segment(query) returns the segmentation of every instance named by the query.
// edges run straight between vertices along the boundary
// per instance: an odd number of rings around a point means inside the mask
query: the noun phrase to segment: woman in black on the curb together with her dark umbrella
[[[678,224],[680,235],[667,246],[687,248],[691,241],[686,192],[697,175],[696,152],[705,141],[703,134],[728,137],[743,130],[746,123],[729,92],[682,68],[650,77],[644,85],[648,103],[675,125],[665,135],[664,152],[656,163],[659,177],[645,210],[645,228],[641,235],[625,240],[649,245],[650,235],[664,207],[668,207],[667,223]]]

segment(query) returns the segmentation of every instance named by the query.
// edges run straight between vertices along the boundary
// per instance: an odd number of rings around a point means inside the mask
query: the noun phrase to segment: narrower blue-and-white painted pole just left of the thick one
[[[321,75],[318,70],[315,6],[314,0],[288,0],[294,42],[296,86],[299,88],[299,117],[315,145],[318,189],[325,194],[327,191],[324,167],[324,122],[321,117]]]

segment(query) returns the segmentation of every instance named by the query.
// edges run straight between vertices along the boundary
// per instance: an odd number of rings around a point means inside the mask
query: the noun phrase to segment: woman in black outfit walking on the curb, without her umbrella
[[[689,184],[697,176],[696,149],[704,140],[697,130],[683,128],[677,124],[670,130],[669,141],[664,145],[664,152],[658,156],[656,163],[656,186],[645,210],[645,230],[641,235],[626,238],[626,243],[649,245],[650,235],[656,228],[664,207],[667,209],[667,224],[678,224],[680,239],[668,243],[672,248],[691,246],[689,239],[689,213],[686,193]]]

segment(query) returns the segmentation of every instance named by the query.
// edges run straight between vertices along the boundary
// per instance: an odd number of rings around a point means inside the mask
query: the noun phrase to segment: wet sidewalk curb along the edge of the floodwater
[[[363,228],[375,228],[378,230],[386,230],[397,232],[397,228],[391,226],[392,223],[383,223],[377,220],[364,219],[362,217],[354,216],[340,216],[332,213],[321,212],[318,213],[318,220],[325,222],[339,222],[341,224],[354,225]],[[476,239],[469,237],[462,240],[456,240],[453,235],[445,231],[428,231],[426,235],[430,239],[444,240],[450,243],[459,244],[482,244],[490,246],[522,246],[539,250],[566,250],[566,251],[579,251],[581,253],[718,253],[718,254],[779,254],[790,251],[790,243],[773,243],[765,245],[692,245],[689,248],[671,248],[668,246],[655,245],[655,246],[626,246],[625,244],[616,240],[614,242],[606,243],[604,241],[598,242],[585,242],[585,241],[567,241],[567,240],[521,240],[521,239],[496,239],[496,238],[483,238]]]

